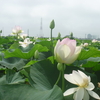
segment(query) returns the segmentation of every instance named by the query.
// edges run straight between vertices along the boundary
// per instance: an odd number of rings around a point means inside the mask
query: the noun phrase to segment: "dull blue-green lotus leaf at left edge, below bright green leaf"
[[[25,60],[17,57],[4,58],[2,55],[0,65],[9,69],[12,69],[14,67],[17,69],[21,69],[25,65]]]

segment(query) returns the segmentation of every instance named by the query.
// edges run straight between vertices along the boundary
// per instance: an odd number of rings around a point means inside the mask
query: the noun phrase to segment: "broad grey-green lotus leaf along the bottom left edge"
[[[63,100],[63,95],[58,86],[40,91],[24,84],[1,85],[0,100]]]

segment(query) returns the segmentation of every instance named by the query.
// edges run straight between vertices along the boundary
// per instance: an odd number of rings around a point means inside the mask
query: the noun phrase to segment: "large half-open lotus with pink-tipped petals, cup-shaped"
[[[58,40],[54,48],[54,55],[59,63],[71,64],[80,54],[82,46],[76,46],[76,40],[65,38]]]

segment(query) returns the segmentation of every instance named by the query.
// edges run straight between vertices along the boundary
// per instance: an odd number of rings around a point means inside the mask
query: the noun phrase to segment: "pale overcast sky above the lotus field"
[[[42,32],[41,27],[42,18]],[[53,36],[73,32],[75,37],[100,34],[100,0],[0,0],[0,30],[9,35],[15,26],[29,29],[30,36],[50,36],[49,25],[54,19]]]

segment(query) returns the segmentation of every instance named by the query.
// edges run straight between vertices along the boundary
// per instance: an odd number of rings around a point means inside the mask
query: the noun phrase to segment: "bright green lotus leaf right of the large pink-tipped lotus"
[[[96,48],[82,50],[78,57],[78,60],[88,59],[90,57],[100,57],[100,51]]]

